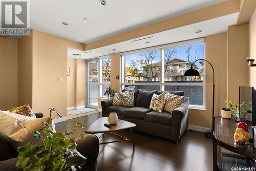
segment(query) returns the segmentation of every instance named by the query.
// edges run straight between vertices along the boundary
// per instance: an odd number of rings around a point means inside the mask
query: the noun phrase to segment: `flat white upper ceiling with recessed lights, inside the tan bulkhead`
[[[225,0],[31,0],[30,27],[77,42],[91,42]],[[84,22],[82,18],[88,18]],[[68,26],[61,23],[67,22]]]

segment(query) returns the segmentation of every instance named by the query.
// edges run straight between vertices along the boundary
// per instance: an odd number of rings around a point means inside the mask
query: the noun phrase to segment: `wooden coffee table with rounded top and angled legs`
[[[132,122],[128,122],[125,120],[121,120],[118,119],[118,123],[115,125],[112,125],[111,127],[106,127],[104,126],[104,123],[109,123],[108,122],[108,117],[102,117],[97,119],[96,121],[94,121],[91,125],[89,125],[86,129],[86,133],[87,134],[98,134],[98,133],[102,133],[100,135],[100,137],[104,136],[104,133],[112,133],[118,137],[121,137],[123,139],[121,140],[117,140],[117,141],[109,141],[109,142],[102,142],[100,144],[108,144],[108,143],[114,143],[114,142],[121,142],[121,141],[127,141],[127,140],[132,140],[133,142],[133,147],[135,147],[134,144],[134,137],[133,137],[133,127],[136,126],[136,124],[132,123]],[[116,133],[114,133],[115,131],[119,131],[119,130],[126,130],[129,129],[131,132],[131,138],[126,138],[123,137],[121,135],[118,135]],[[99,139],[100,139],[99,137]]]

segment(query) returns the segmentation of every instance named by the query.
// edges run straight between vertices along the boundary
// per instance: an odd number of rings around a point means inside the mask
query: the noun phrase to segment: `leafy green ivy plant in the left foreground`
[[[55,108],[49,109],[49,122],[43,122],[44,129],[34,130],[33,132],[35,138],[40,138],[41,144],[37,145],[29,142],[25,146],[18,147],[17,168],[22,168],[25,171],[76,170],[76,167],[81,168],[86,162],[86,158],[76,149],[76,141],[80,138],[84,139],[82,134],[77,137],[78,130],[83,128],[82,123],[77,122],[75,124],[74,132],[55,133],[51,129],[52,114],[56,112],[56,116],[60,115]],[[67,135],[73,136],[67,138]]]

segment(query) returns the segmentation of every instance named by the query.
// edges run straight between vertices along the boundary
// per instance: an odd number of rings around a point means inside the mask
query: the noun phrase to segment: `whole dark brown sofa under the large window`
[[[130,91],[131,90],[122,90]],[[189,99],[185,97],[183,103],[172,113],[151,111],[150,106],[153,94],[160,95],[163,91],[136,90],[134,92],[135,107],[112,105],[113,100],[101,101],[102,116],[108,117],[111,112],[116,112],[119,119],[136,124],[135,131],[151,134],[154,136],[172,140],[178,143],[188,126]],[[175,95],[184,96],[183,91],[170,92]]]

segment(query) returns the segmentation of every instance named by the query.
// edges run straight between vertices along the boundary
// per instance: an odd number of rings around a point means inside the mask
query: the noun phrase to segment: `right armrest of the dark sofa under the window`
[[[183,103],[172,112],[172,140],[178,141],[188,126],[189,98],[185,97]]]

